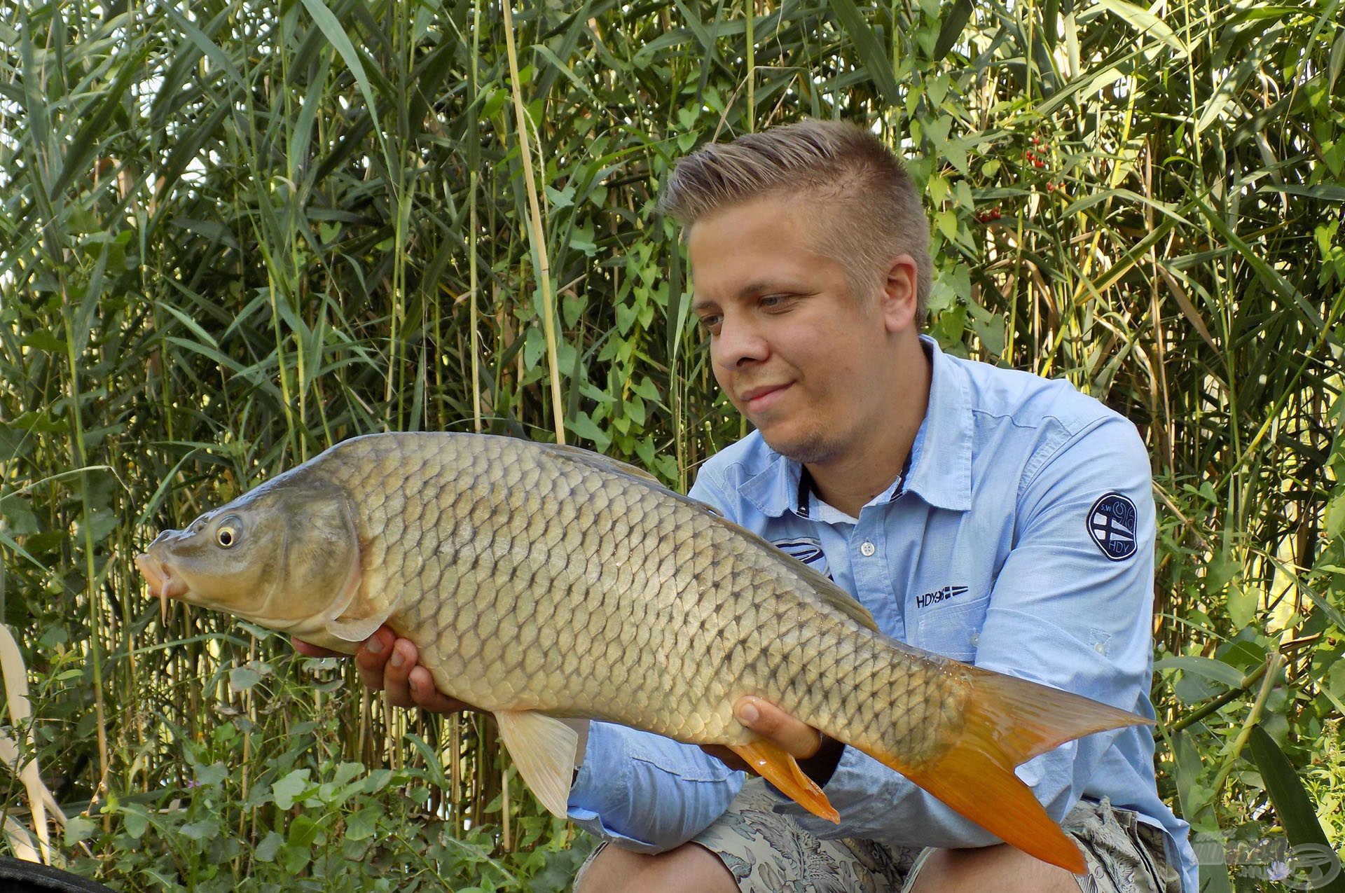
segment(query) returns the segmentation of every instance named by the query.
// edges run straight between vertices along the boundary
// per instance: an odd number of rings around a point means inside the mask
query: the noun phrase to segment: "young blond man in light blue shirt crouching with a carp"
[[[822,121],[709,145],[677,165],[662,208],[686,227],[716,379],[756,426],[691,495],[830,574],[888,635],[1153,717],[1139,436],[1064,382],[919,335],[928,222],[886,148]],[[369,685],[464,706],[394,639],[356,655]],[[841,824],[744,784],[728,752],[593,722],[570,818],[613,845],[577,890],[1194,890],[1147,728],[1018,769],[1080,843],[1076,878],[771,703],[744,698],[737,715],[800,760]]]

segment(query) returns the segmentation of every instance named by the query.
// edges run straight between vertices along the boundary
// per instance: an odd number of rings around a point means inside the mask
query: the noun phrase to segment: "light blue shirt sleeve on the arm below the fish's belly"
[[[724,512],[725,500],[705,477],[697,479],[690,496]],[[570,788],[569,818],[624,849],[662,853],[724,815],[742,779],[742,772],[694,745],[592,722],[584,765]]]

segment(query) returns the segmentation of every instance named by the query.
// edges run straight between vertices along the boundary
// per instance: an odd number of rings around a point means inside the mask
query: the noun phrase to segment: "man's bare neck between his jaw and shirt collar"
[[[901,475],[929,406],[929,358],[919,342],[915,356],[908,356],[901,368],[911,370],[909,377],[889,379],[901,386],[892,395],[892,413],[873,436],[833,460],[808,464],[818,496],[851,518],[858,518],[859,510]]]

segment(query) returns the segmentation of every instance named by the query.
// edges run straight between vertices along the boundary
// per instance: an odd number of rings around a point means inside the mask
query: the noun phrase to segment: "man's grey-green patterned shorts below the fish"
[[[728,812],[693,838],[724,861],[742,893],[905,893],[933,853],[874,841],[819,841],[772,811],[776,803],[753,779]],[[1163,853],[1163,832],[1134,812],[1083,800],[1063,827],[1088,862],[1088,874],[1076,878],[1081,893],[1181,893],[1181,878]],[[605,846],[599,845],[580,876]]]

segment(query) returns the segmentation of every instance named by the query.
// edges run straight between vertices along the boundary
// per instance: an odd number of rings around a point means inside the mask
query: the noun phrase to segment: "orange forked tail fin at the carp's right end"
[[[912,768],[892,754],[866,753],[1006,843],[1083,874],[1085,865],[1079,847],[1013,769],[1065,741],[1150,721],[1036,682],[971,671],[974,685],[966,725],[936,760]]]

